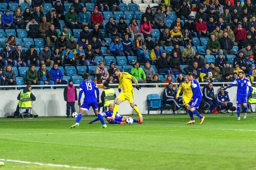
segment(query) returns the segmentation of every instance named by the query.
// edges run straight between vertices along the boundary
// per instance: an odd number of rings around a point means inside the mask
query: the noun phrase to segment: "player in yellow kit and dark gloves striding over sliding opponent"
[[[136,84],[137,90],[140,90],[140,86],[138,85],[137,79],[133,77],[131,74],[128,74],[127,72],[121,72],[118,68],[116,68],[113,72],[118,78],[119,78],[119,86],[118,86],[118,91],[121,93],[121,88],[122,88],[122,93],[117,97],[116,102],[115,102],[115,107],[113,110],[113,115],[112,117],[107,117],[107,119],[114,120],[116,116],[116,112],[118,111],[119,104],[124,102],[125,100],[128,100],[130,103],[131,107],[138,113],[139,115],[139,124],[143,122],[143,117],[137,108],[137,106],[134,105],[134,91],[133,87],[131,85],[131,80],[134,81]]]

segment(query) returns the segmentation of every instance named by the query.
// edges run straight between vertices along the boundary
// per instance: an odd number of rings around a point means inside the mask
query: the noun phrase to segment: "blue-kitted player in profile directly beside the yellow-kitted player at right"
[[[195,120],[193,117],[193,114],[195,114],[200,118],[200,124],[202,125],[204,123],[205,117],[199,114],[198,111],[196,110],[196,108],[199,107],[199,104],[202,100],[202,92],[200,89],[200,85],[198,81],[195,79],[193,73],[188,74],[188,79],[189,81],[191,81],[191,89],[192,89],[193,96],[190,99],[189,105],[187,106],[187,110],[189,111],[190,121],[187,122],[186,124],[195,123]]]

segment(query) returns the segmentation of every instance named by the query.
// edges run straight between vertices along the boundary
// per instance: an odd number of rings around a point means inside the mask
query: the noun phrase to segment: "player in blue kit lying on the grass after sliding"
[[[102,112],[102,117],[105,117],[107,119],[107,117],[111,117],[113,115],[113,109],[114,109],[114,105],[110,104],[108,106],[108,111],[104,111]],[[116,116],[115,116],[115,120],[111,120],[111,119],[107,119],[107,121],[110,124],[126,124],[125,121],[126,119],[128,119],[129,116],[120,116],[118,112],[116,112]],[[98,121],[99,118],[94,119],[93,121],[91,121],[89,124],[92,124],[93,122]],[[135,123],[139,123],[137,119],[133,119]]]

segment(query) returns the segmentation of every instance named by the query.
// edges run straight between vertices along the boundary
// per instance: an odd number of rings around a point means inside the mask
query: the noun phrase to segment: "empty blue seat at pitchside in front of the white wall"
[[[160,114],[162,114],[163,112],[162,99],[158,94],[148,94],[147,104],[148,104],[148,114],[150,109],[161,109]]]

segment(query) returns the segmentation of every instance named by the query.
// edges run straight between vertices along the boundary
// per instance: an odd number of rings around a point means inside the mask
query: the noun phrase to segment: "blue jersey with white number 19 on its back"
[[[79,85],[78,100],[81,100],[81,96],[84,92],[84,102],[97,102],[95,91],[97,93],[97,98],[99,98],[99,88],[97,87],[96,83],[90,80],[85,80]]]

